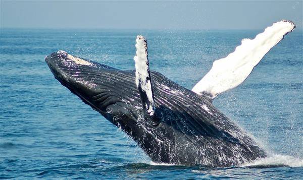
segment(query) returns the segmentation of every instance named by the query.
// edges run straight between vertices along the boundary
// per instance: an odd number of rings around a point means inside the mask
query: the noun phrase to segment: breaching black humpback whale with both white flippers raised
[[[63,50],[45,57],[55,78],[122,129],[154,162],[233,166],[267,156],[213,99],[241,84],[295,25],[282,20],[214,62],[192,90],[149,71],[147,41],[136,38],[135,70],[122,71]]]

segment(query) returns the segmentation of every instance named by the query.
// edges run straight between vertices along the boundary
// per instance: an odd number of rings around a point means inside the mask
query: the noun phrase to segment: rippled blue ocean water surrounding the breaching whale
[[[62,86],[44,57],[63,49],[134,69],[135,37],[146,36],[150,69],[191,88],[243,38],[263,30],[1,29],[0,178],[300,179],[303,177],[303,38],[295,29],[248,79],[214,104],[270,157],[238,167],[156,164]]]

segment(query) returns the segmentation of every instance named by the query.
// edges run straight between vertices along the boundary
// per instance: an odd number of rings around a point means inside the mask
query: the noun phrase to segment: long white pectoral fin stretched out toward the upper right
[[[264,55],[294,28],[293,22],[282,20],[267,27],[255,39],[243,39],[234,52],[214,62],[212,69],[192,88],[192,91],[214,99],[218,94],[238,86],[249,76]]]

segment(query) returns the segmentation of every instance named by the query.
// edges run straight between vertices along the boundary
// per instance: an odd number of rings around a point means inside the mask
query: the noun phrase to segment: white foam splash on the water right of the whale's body
[[[303,159],[288,156],[273,154],[270,157],[257,159],[254,162],[243,164],[242,166],[290,166],[290,167],[303,167]]]

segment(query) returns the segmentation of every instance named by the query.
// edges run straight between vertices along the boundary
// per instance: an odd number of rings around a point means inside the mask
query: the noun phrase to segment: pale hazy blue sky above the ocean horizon
[[[302,1],[1,1],[2,28],[264,29],[287,19],[302,28]]]

